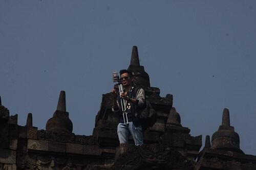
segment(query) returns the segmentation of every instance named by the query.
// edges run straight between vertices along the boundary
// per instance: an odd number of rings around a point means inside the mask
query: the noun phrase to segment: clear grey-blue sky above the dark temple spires
[[[73,132],[91,135],[112,72],[132,46],[181,124],[212,135],[222,111],[256,155],[256,1],[0,1],[0,95],[18,124],[45,129],[66,91]]]

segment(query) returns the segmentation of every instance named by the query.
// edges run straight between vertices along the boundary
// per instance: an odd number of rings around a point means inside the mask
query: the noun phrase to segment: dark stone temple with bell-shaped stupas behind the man
[[[128,67],[137,84],[144,87],[146,99],[157,113],[157,122],[144,130],[144,145],[119,145],[118,116],[112,113],[112,94],[102,95],[91,136],[72,133],[73,124],[61,91],[56,111],[38,130],[28,114],[26,126],[17,125],[0,99],[0,170],[16,169],[234,169],[255,170],[256,156],[240,149],[239,134],[230,126],[229,111],[223,110],[222,125],[206,136],[191,136],[181,125],[173,107],[173,95],[161,97],[160,89],[150,86],[150,77],[139,63],[137,47]],[[221,118],[221,117],[220,117]],[[217,128],[217,127],[216,127]],[[200,151],[200,152],[199,152]]]

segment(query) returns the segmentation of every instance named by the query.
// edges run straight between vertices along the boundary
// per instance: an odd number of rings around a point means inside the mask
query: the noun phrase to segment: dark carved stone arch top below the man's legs
[[[120,149],[121,148],[121,149]],[[120,145],[113,169],[116,165],[133,165],[131,169],[194,169],[192,161],[189,161],[179,152],[166,145],[148,144],[142,147],[135,145]]]

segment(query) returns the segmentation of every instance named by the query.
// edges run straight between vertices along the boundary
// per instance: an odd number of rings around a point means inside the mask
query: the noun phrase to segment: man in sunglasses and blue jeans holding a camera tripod
[[[111,90],[114,94],[113,112],[118,112],[120,115],[119,124],[117,126],[118,139],[120,144],[128,143],[129,133],[131,133],[135,145],[142,145],[143,132],[139,122],[138,109],[144,106],[145,93],[142,88],[138,88],[133,84],[134,79],[131,71],[125,69],[120,70],[120,78],[125,92],[120,96],[114,88]],[[121,98],[127,101],[126,111],[129,122],[127,125],[125,125],[123,120]]]

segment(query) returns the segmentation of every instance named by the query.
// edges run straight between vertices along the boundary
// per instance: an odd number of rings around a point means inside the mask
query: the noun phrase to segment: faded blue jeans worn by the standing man
[[[143,144],[143,132],[142,127],[135,127],[133,122],[129,122],[126,126],[124,123],[119,123],[117,126],[117,134],[120,144],[128,143],[129,132],[133,136],[133,140],[136,146]]]

